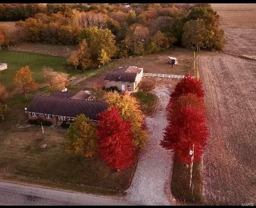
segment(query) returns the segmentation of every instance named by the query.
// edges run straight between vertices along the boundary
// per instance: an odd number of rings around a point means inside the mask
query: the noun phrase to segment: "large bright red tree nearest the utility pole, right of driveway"
[[[168,120],[171,121],[170,118]],[[208,129],[205,125],[205,116],[198,109],[186,105],[164,130],[164,139],[161,141],[163,148],[174,150],[179,161],[189,164],[189,150],[192,150],[192,145],[195,144],[194,161],[200,161]]]

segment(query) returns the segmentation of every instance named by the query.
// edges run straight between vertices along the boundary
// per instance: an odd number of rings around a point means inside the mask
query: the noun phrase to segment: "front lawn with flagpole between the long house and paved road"
[[[96,155],[86,158],[65,152],[66,129],[29,127],[12,130],[0,139],[0,175],[29,181],[47,181],[54,184],[84,185],[102,192],[119,192],[128,188],[135,169],[117,173]],[[46,149],[40,144],[46,143]],[[7,170],[8,169],[8,170]]]

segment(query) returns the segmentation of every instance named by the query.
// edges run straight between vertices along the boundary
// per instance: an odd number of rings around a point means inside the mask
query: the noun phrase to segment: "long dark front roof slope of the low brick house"
[[[26,112],[68,117],[77,117],[82,113],[90,120],[98,120],[96,115],[107,108],[108,104],[105,102],[37,95]]]

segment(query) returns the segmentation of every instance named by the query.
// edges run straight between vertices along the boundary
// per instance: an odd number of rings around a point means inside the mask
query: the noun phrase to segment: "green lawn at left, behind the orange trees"
[[[17,69],[25,65],[28,65],[34,72],[34,78],[39,84],[44,83],[44,78],[42,77],[43,66],[51,67],[56,71],[65,72],[70,75],[82,73],[82,71],[68,66],[66,58],[28,52],[1,50],[0,63],[8,64],[8,69],[0,71],[0,83],[4,84],[9,90],[13,89],[13,75]]]

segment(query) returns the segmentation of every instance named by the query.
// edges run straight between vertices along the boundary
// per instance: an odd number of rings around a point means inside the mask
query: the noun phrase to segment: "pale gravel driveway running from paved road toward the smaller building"
[[[170,175],[172,173],[173,153],[160,146],[163,128],[167,125],[165,107],[169,100],[169,91],[157,87],[154,92],[158,106],[154,116],[147,117],[146,123],[150,140],[142,150],[131,186],[126,191],[126,200],[145,205],[171,205]]]

